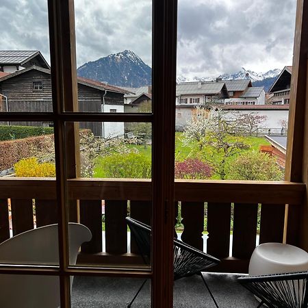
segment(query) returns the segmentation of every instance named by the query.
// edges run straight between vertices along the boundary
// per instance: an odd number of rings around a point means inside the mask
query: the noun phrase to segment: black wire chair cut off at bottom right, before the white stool
[[[238,282],[270,308],[307,308],[308,272],[239,277]]]

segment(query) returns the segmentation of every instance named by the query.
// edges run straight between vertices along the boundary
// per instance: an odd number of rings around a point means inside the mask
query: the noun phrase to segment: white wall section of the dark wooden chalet
[[[124,112],[123,105],[102,105],[102,112]],[[103,138],[123,137],[124,123],[104,122],[102,123]]]

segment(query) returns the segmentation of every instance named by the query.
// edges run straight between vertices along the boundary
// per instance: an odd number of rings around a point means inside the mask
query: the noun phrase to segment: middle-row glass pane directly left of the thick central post
[[[151,226],[151,123],[66,123],[66,162],[75,167],[76,156],[69,156],[74,129],[80,178],[67,183],[70,221],[90,229],[77,237],[84,239],[77,264],[149,268],[125,218]]]

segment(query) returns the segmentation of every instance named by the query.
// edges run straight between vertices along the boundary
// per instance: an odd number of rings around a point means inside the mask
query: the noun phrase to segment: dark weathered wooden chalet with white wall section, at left
[[[86,78],[77,78],[78,108],[80,112],[124,112],[124,94],[121,88]],[[2,111],[52,112],[51,71],[40,66],[29,66],[0,78],[0,94],[7,99]],[[7,110],[8,109],[8,110]],[[6,123],[5,123],[6,124]],[[11,125],[49,126],[51,122],[11,121]],[[95,136],[123,135],[124,128],[116,131],[112,125],[99,122],[81,122],[81,128],[91,129]]]

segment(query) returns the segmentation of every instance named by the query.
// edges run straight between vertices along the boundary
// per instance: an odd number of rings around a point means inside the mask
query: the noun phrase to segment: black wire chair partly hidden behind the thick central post
[[[131,230],[131,233],[133,234],[133,238],[136,241],[138,250],[142,255],[144,263],[151,264],[151,227],[149,227],[147,224],[144,224],[138,220],[129,217],[126,218],[126,221],[129,226],[129,229]],[[176,238],[174,239],[173,251],[174,280],[183,277],[189,277],[194,274],[199,274],[203,280],[203,283],[207,287],[207,290],[209,291],[209,294],[211,295],[211,298],[214,301],[216,307],[218,307],[216,300],[211,293],[211,290],[209,290],[209,286],[205,282],[205,279],[201,272],[205,271],[205,269],[210,268],[211,266],[216,266],[220,262],[220,260],[216,259],[215,257],[212,257],[211,255],[207,255],[206,253],[203,253],[203,251],[199,251],[198,249],[188,244],[185,244],[184,242],[181,242]],[[138,292],[135,294],[135,296],[131,300],[131,303],[129,303],[127,307],[131,307],[133,301],[136,299],[139,292],[142,290],[144,283],[146,283],[146,280],[142,283]]]

